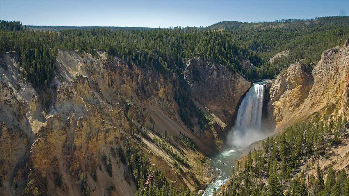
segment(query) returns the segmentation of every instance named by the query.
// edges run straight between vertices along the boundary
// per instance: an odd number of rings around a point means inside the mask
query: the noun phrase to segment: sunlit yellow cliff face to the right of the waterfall
[[[312,73],[298,62],[267,84],[270,86],[268,119],[276,132],[290,123],[333,104],[343,116],[349,112],[349,43],[322,52]]]

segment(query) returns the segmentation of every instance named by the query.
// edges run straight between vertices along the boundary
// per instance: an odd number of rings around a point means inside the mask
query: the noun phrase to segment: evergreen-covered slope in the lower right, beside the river
[[[317,161],[336,156],[333,149],[348,140],[344,122],[347,119],[338,114],[321,117],[317,112],[309,122],[295,123],[275,137],[266,138],[261,149],[249,152],[243,164],[238,162],[237,168],[233,168],[230,183],[222,195],[349,195],[346,170],[335,173],[333,165],[337,161],[334,160],[322,171]],[[316,171],[315,175],[309,176],[310,169]]]

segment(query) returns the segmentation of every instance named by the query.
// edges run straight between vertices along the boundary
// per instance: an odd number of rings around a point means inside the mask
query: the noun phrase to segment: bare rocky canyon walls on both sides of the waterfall
[[[205,189],[214,175],[206,173],[207,161],[227,143],[253,84],[199,56],[185,62],[182,78],[96,52],[59,49],[46,94],[21,80],[16,52],[0,54],[0,195],[22,195],[30,182],[44,195],[80,195],[87,186],[90,195],[133,196],[138,186],[130,170],[133,148],[174,187]],[[324,51],[313,70],[298,61],[268,81],[261,126],[275,135],[315,115],[348,116],[348,59],[347,40]],[[193,126],[181,118],[183,93],[209,121],[207,128],[197,116],[190,116]],[[186,145],[186,137],[194,147]],[[161,138],[165,149],[155,142]],[[184,161],[178,163],[166,149]]]

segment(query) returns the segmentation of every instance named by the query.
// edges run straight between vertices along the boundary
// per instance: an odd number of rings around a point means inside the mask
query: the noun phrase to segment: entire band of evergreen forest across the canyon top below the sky
[[[17,21],[1,21],[0,52],[16,51],[24,62],[21,62],[23,78],[34,86],[50,81],[57,48],[81,50],[94,56],[97,56],[95,49],[99,48],[110,56],[125,59],[130,66],[131,62],[141,67],[151,63],[164,75],[170,71],[181,75],[184,62],[200,55],[253,80],[274,78],[297,60],[312,68],[320,60],[322,51],[345,42],[349,35],[348,21],[348,16],[342,16],[270,23],[226,21],[207,28],[127,31],[94,28],[59,32],[33,31]],[[220,27],[227,30],[214,30]],[[287,57],[268,61],[287,49],[291,50]],[[242,60],[256,67],[244,69]]]

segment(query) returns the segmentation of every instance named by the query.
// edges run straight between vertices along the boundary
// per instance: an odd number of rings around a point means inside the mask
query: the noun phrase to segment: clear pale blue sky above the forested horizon
[[[0,0],[0,20],[47,26],[206,27],[348,14],[349,0]]]

